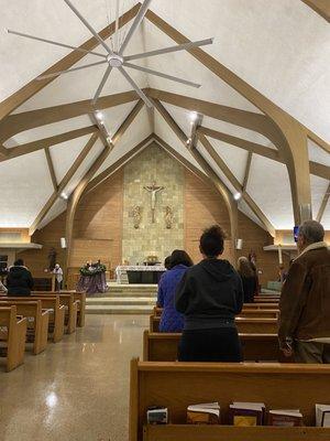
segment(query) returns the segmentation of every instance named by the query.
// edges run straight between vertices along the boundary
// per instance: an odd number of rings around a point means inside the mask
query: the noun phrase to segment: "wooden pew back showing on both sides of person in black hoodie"
[[[180,333],[143,333],[144,362],[176,362]],[[278,347],[276,334],[240,334],[245,362],[288,363]],[[293,359],[290,359],[293,362]]]

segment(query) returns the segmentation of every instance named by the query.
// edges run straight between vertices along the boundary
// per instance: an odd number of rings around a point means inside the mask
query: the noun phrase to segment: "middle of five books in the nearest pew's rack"
[[[263,426],[265,405],[263,402],[239,402],[229,406],[233,426]]]

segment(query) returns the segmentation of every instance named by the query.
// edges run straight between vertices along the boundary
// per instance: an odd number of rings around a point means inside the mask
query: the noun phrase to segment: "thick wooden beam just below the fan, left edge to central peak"
[[[98,109],[111,108],[139,99],[135,90],[108,95],[98,99]],[[16,133],[36,127],[59,122],[65,119],[76,118],[95,111],[90,99],[46,107],[44,109],[29,110],[10,115],[0,121],[0,142],[4,142]]]

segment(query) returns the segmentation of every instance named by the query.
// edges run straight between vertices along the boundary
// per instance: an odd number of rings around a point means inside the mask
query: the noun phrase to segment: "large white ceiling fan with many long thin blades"
[[[105,50],[107,51],[107,54],[102,54],[99,52],[95,52],[95,51],[86,51],[84,49],[80,47],[76,47],[76,46],[72,46],[68,44],[64,44],[64,43],[59,43],[59,42],[55,42],[52,40],[46,40],[46,39],[42,39],[38,36],[34,36],[34,35],[29,35],[29,34],[24,34],[22,32],[16,32],[16,31],[12,31],[12,30],[8,30],[8,33],[14,34],[14,35],[19,35],[19,36],[23,36],[26,39],[32,39],[32,40],[37,40],[44,43],[50,43],[50,44],[54,44],[57,46],[63,46],[63,47],[67,47],[67,49],[74,49],[76,51],[80,51],[84,52],[86,54],[91,54],[98,57],[101,57],[103,60],[98,61],[96,63],[90,63],[90,64],[86,64],[84,66],[79,66],[79,67],[73,67],[69,68],[67,71],[63,71],[63,72],[56,72],[54,74],[50,74],[50,75],[42,75],[40,77],[37,77],[37,79],[45,79],[45,78],[51,78],[51,77],[56,77],[59,76],[62,74],[67,74],[69,72],[74,72],[74,71],[80,71],[84,68],[88,68],[88,67],[92,67],[92,66],[97,66],[100,64],[105,64],[107,65],[106,72],[103,74],[103,77],[100,82],[100,85],[92,98],[92,105],[95,106],[97,104],[97,100],[109,78],[109,75],[111,73],[111,71],[113,68],[118,68],[119,72],[122,74],[122,76],[130,83],[130,85],[133,87],[133,89],[136,92],[136,94],[144,100],[144,103],[146,104],[147,107],[152,108],[153,104],[152,101],[147,98],[147,96],[143,93],[143,90],[141,90],[141,88],[136,85],[136,83],[134,82],[134,79],[130,76],[130,74],[127,72],[125,67],[128,68],[133,68],[136,71],[142,71],[145,72],[147,74],[151,75],[156,75],[166,79],[170,79],[173,82],[177,82],[177,83],[182,83],[191,87],[200,87],[199,84],[189,82],[187,79],[184,78],[178,78],[172,75],[167,75],[164,74],[162,72],[157,72],[154,69],[150,69],[143,66],[139,66],[136,64],[132,64],[130,63],[133,60],[141,60],[141,58],[146,58],[146,57],[151,57],[151,56],[155,56],[155,55],[162,55],[162,54],[166,54],[166,53],[170,53],[170,52],[177,52],[177,51],[185,51],[191,47],[197,47],[197,46],[204,46],[207,44],[212,44],[213,39],[207,39],[207,40],[200,40],[200,41],[196,41],[196,42],[189,42],[189,43],[185,43],[185,44],[178,44],[178,45],[174,45],[174,46],[169,46],[169,47],[165,47],[165,49],[161,49],[161,50],[156,50],[156,51],[151,51],[151,52],[144,52],[141,54],[134,54],[134,55],[130,55],[130,56],[125,56],[123,53],[129,44],[129,42],[131,41],[134,32],[136,31],[136,29],[139,28],[139,25],[141,24],[144,15],[147,12],[147,9],[150,7],[150,3],[152,0],[144,0],[129,32],[127,33],[122,44],[119,44],[119,39],[117,37],[117,42],[118,42],[118,46],[116,51],[112,51],[110,49],[110,46],[99,36],[99,34],[96,32],[96,30],[88,23],[88,21],[80,14],[80,12],[74,7],[74,4],[69,1],[69,0],[64,0],[66,2],[66,4],[73,10],[73,12],[79,18],[79,20],[85,24],[85,26],[91,32],[91,34],[99,41],[99,43],[105,47]],[[117,0],[117,17],[116,17],[116,33],[118,34],[119,32],[119,0]]]

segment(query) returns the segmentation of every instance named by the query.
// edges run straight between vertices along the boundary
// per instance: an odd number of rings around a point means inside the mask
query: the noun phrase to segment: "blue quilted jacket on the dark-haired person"
[[[174,297],[176,288],[186,271],[186,266],[177,265],[164,272],[160,280],[157,305],[164,308],[160,323],[161,332],[182,332],[184,329],[184,316],[176,311]]]

